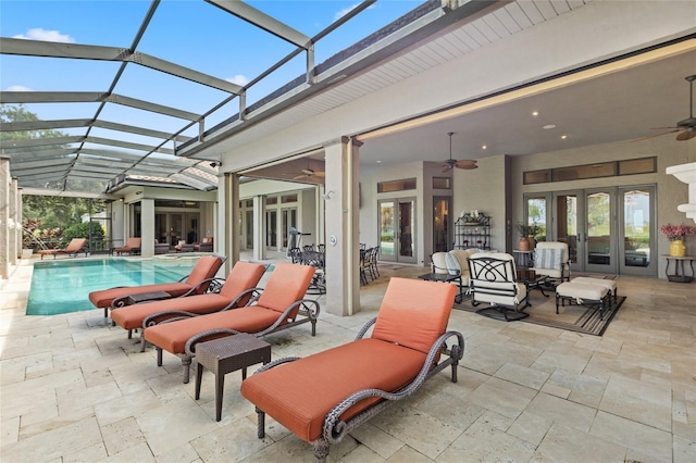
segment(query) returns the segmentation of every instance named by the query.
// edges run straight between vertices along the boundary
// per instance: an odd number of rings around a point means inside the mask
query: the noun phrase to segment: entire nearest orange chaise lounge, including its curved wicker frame
[[[259,438],[268,413],[326,461],[331,443],[436,373],[451,365],[457,383],[464,339],[447,331],[456,293],[453,285],[393,277],[376,318],[355,341],[262,366],[241,383],[241,395],[257,408]],[[373,324],[372,336],[363,338]]]

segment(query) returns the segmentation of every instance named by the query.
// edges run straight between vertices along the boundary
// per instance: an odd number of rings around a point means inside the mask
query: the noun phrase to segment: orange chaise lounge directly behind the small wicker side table
[[[275,265],[259,298],[248,305],[210,315],[190,314],[186,320],[154,326],[150,326],[150,321],[146,320],[144,327],[147,328],[142,337],[156,346],[158,366],[162,366],[162,350],[178,355],[184,365],[184,383],[188,383],[198,342],[238,333],[265,336],[308,322],[312,324],[314,336],[319,302],[303,299],[313,275],[314,267],[310,265],[281,262]]]

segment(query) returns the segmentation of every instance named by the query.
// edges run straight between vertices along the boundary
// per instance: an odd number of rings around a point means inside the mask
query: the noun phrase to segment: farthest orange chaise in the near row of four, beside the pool
[[[214,276],[225,262],[222,255],[203,255],[187,277],[178,281],[161,283],[157,285],[119,286],[100,289],[89,293],[89,301],[97,308],[104,310],[104,318],[109,316],[109,309],[116,309],[128,304],[128,297],[154,291],[167,292],[171,297],[202,295],[214,284]],[[214,286],[214,285],[213,285]]]

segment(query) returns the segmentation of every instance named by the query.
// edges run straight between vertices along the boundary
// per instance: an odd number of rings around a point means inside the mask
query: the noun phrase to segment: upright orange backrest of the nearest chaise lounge
[[[455,285],[391,277],[372,337],[427,354],[447,329],[456,293]]]

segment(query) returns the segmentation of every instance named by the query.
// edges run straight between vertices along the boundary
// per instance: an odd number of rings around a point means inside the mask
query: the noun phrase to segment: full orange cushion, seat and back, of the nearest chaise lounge
[[[397,391],[420,373],[427,352],[447,329],[452,285],[394,277],[385,292],[372,337],[281,364],[248,377],[241,393],[309,442],[319,439],[326,414],[364,389]],[[348,420],[380,399],[364,399]]]

